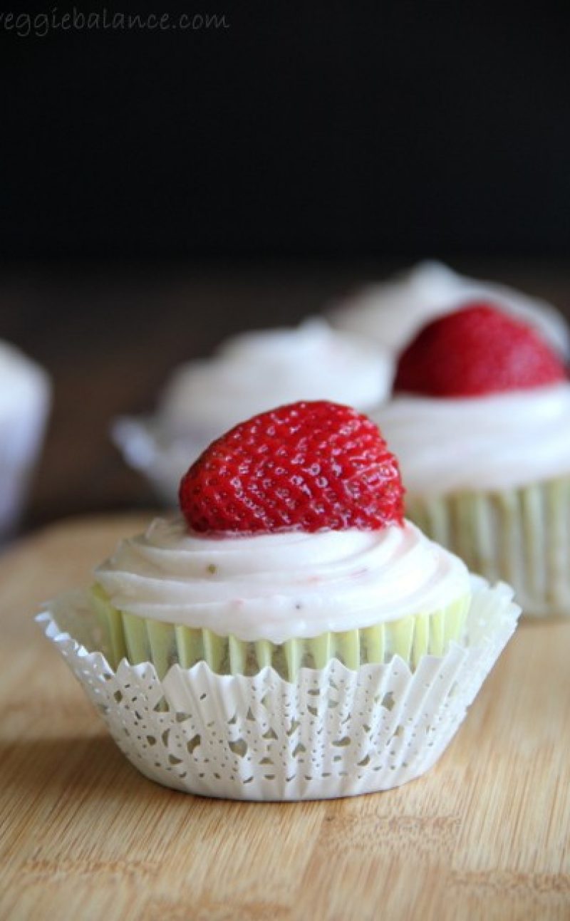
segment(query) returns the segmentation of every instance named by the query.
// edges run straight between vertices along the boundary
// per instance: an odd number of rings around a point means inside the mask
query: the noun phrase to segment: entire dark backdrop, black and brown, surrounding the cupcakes
[[[568,309],[570,15],[509,6],[141,2],[109,12],[227,28],[0,25],[0,336],[54,383],[24,527],[152,502],[110,420],[230,332],[427,256]]]

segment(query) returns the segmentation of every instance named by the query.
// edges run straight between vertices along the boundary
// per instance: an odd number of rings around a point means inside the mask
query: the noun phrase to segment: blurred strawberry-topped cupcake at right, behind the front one
[[[406,513],[529,614],[570,614],[570,384],[553,349],[489,304],[432,321],[376,415]]]

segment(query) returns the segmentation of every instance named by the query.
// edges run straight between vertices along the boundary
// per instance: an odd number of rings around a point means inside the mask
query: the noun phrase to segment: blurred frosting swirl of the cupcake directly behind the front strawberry
[[[214,357],[181,366],[161,402],[161,425],[207,444],[251,415],[297,400],[331,400],[368,410],[390,391],[392,361],[379,346],[335,332],[325,321],[247,332]]]

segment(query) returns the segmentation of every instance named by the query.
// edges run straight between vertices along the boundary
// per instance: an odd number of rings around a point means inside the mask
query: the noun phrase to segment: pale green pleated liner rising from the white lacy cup
[[[301,668],[322,669],[332,659],[346,668],[382,664],[398,655],[412,669],[423,656],[444,656],[451,640],[459,640],[471,598],[465,595],[435,612],[403,617],[344,633],[325,633],[283,644],[245,642],[211,630],[139,617],[112,607],[99,585],[91,591],[102,631],[102,646],[111,666],[122,659],[132,665],[152,662],[162,679],[172,665],[190,669],[204,661],[219,675],[255,675],[265,666],[285,681],[295,681]]]

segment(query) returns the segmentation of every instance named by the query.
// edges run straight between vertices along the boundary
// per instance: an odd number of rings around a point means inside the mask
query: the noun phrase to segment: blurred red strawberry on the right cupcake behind
[[[428,323],[402,352],[395,391],[474,397],[565,380],[564,365],[526,323],[473,303]]]

